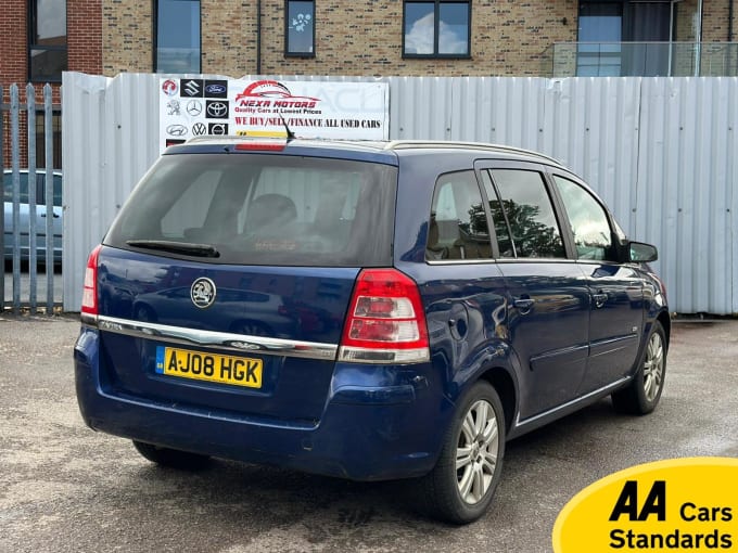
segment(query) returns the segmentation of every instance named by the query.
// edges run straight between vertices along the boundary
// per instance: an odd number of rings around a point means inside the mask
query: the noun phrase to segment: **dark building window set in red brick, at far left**
[[[60,82],[66,70],[66,0],[31,0],[28,75],[33,82]]]

